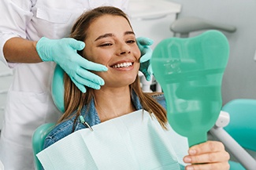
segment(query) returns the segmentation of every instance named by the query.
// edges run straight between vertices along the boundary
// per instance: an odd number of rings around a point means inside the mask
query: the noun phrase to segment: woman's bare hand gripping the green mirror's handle
[[[184,157],[185,163],[191,165],[186,166],[186,170],[225,170],[229,169],[230,156],[224,150],[224,145],[217,141],[207,141],[195,146],[191,146],[188,155]]]

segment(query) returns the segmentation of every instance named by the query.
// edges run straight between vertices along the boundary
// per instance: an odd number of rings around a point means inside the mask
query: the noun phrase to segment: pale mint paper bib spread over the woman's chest
[[[37,154],[46,170],[180,169],[187,138],[137,110],[73,132]]]

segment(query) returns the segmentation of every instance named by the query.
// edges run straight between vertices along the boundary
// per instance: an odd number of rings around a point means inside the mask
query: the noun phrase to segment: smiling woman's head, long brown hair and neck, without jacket
[[[70,37],[85,42],[86,48],[79,52],[81,56],[105,65],[108,71],[95,72],[103,78],[105,85],[99,90],[87,88],[85,94],[80,92],[65,74],[66,111],[60,121],[70,118],[74,111],[78,118],[80,110],[92,99],[95,100],[95,108],[101,122],[131,113],[135,111],[131,100],[131,92],[134,91],[143,101],[143,108],[150,112],[154,110],[158,120],[161,120],[161,125],[165,126],[165,110],[140,89],[140,51],[128,17],[121,9],[100,7],[83,13],[72,27]],[[145,99],[149,101],[144,102]],[[150,108],[151,106],[158,107]],[[100,108],[104,108],[104,112]]]

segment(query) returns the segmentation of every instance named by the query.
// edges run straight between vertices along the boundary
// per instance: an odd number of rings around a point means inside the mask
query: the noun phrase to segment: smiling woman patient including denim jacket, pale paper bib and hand
[[[187,139],[168,124],[164,96],[144,93],[140,88],[140,52],[127,16],[114,7],[92,9],[76,21],[71,37],[86,44],[80,56],[105,65],[108,71],[95,72],[105,85],[98,90],[87,88],[86,93],[65,74],[65,113],[46,137],[46,150],[39,153],[44,168],[184,167]],[[220,162],[221,168],[227,163],[221,143],[204,143],[199,149],[196,154],[202,159],[195,163]],[[76,157],[69,157],[74,153]],[[199,160],[195,152],[191,153],[194,155],[187,160]],[[217,159],[208,160],[208,154]]]

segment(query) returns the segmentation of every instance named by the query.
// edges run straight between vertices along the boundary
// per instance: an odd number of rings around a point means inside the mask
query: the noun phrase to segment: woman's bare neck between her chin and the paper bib
[[[101,121],[135,111],[129,87],[95,90],[95,107]]]

